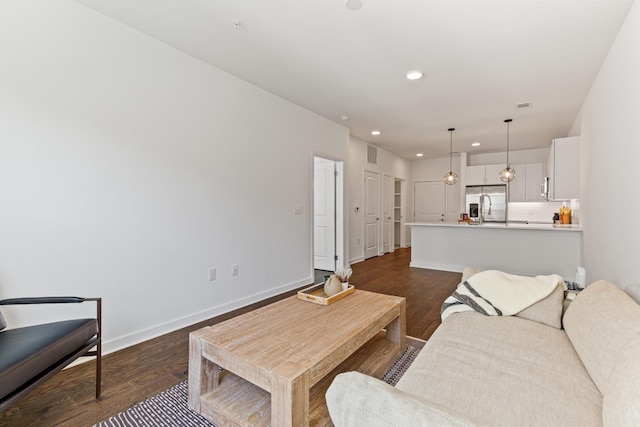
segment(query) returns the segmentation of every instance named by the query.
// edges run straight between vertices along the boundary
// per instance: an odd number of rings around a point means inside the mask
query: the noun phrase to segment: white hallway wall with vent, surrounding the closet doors
[[[346,211],[349,218],[349,261],[351,263],[364,260],[364,171],[377,172],[380,176],[380,209],[382,209],[385,175],[405,180],[407,183],[405,185],[405,201],[408,202],[412,197],[409,192],[411,162],[378,148],[378,164],[367,163],[367,145],[366,142],[354,137],[351,137],[349,141],[349,170],[347,173],[349,202],[346,205]],[[355,212],[356,206],[360,207],[359,212]]]

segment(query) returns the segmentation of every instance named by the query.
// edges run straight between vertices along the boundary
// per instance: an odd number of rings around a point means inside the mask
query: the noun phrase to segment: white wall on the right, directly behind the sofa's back
[[[640,5],[632,6],[577,118],[588,282],[640,289]]]

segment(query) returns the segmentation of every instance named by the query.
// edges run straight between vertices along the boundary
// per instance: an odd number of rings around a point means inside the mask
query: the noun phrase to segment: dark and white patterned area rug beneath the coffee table
[[[395,386],[419,352],[419,348],[408,345],[391,369],[382,376],[382,381]],[[215,427],[215,424],[189,409],[187,393],[187,382],[183,381],[106,421],[95,424],[94,427]]]

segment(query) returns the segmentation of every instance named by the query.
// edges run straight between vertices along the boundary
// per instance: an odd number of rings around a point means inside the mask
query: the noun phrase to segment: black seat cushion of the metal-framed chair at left
[[[96,319],[75,319],[0,332],[0,399],[88,344]]]

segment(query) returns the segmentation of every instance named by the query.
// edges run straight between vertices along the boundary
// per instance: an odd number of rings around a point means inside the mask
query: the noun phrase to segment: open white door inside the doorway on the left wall
[[[335,162],[314,158],[313,267],[336,268],[336,170]]]

